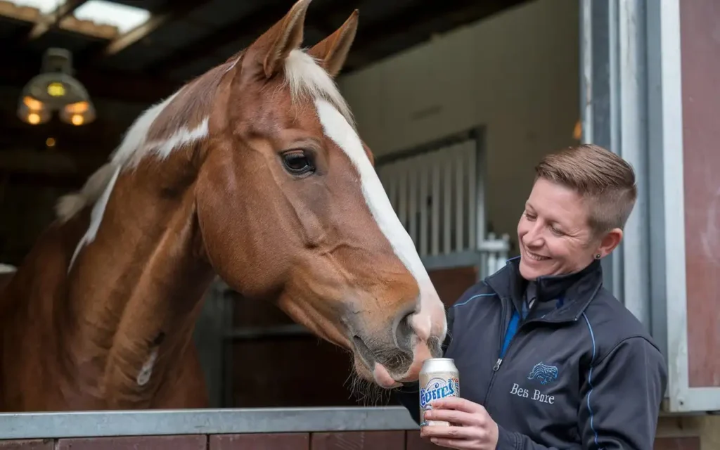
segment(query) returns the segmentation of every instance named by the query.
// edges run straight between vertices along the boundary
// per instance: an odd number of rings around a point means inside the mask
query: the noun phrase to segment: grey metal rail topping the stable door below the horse
[[[0,440],[415,429],[418,429],[418,425],[408,410],[402,407],[0,414]]]

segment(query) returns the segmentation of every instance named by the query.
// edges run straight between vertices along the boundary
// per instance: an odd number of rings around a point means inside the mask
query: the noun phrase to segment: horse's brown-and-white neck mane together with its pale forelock
[[[58,219],[66,222],[84,207],[97,202],[118,171],[132,168],[149,155],[166,158],[184,145],[207,138],[217,86],[242,56],[242,52],[238,53],[185,84],[162,102],[145,109],[132,122],[109,162],[98,168],[80,191],[60,197],[55,204]],[[284,75],[292,102],[303,96],[323,98],[333,104],[352,127],[356,126],[350,107],[333,78],[305,50],[289,53],[284,63]]]

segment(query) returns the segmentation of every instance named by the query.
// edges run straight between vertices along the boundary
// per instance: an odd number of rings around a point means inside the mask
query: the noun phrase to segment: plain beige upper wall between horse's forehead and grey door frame
[[[488,217],[514,241],[534,164],[575,143],[578,14],[536,0],[341,77],[362,138],[382,156],[484,125]]]

